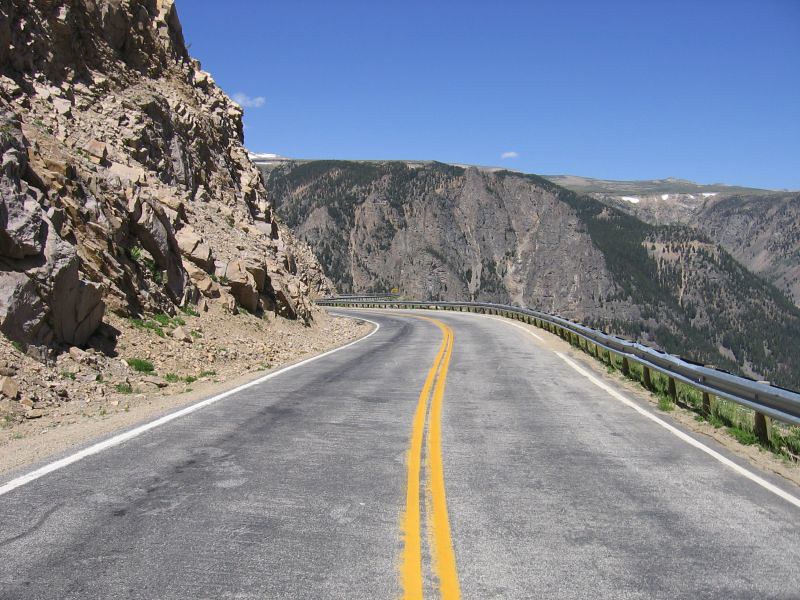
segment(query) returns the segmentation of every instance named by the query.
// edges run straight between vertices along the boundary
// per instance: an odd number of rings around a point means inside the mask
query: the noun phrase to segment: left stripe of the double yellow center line
[[[444,329],[442,329],[444,333]],[[409,600],[422,598],[422,536],[420,535],[420,469],[422,468],[422,439],[425,432],[425,416],[428,396],[439,369],[439,363],[447,348],[449,336],[442,337],[439,352],[428,371],[425,384],[419,394],[417,409],[411,427],[411,443],[408,449],[408,475],[406,484],[406,511],[403,517],[403,558],[400,567],[403,597]]]

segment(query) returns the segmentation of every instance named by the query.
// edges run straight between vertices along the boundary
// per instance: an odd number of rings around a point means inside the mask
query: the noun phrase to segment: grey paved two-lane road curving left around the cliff
[[[464,598],[800,597],[800,509],[518,327],[420,314],[0,496],[0,598],[436,597],[448,546]]]

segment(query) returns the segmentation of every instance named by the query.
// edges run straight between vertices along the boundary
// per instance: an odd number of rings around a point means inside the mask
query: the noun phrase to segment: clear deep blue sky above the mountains
[[[177,0],[245,143],[800,189],[800,1]]]

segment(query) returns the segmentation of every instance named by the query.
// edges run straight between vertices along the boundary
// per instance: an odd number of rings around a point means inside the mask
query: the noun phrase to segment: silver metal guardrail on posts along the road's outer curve
[[[382,299],[380,299],[382,298]],[[572,336],[591,342],[598,348],[622,358],[622,371],[627,374],[630,362],[642,367],[644,383],[650,387],[650,371],[662,373],[669,380],[669,394],[677,399],[676,381],[689,385],[703,394],[703,407],[708,410],[710,396],[730,400],[755,411],[754,433],[765,440],[767,424],[764,416],[800,425],[800,393],[786,390],[768,382],[754,381],[726,371],[699,365],[672,354],[648,348],[637,342],[609,335],[568,319],[528,308],[487,302],[422,302],[385,299],[386,295],[335,297],[318,300],[323,306],[353,308],[406,308],[478,312],[495,314],[525,321],[572,341]]]

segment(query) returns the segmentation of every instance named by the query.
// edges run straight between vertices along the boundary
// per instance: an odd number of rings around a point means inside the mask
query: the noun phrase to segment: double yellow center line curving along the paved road
[[[419,317],[434,323],[442,331],[439,352],[428,371],[419,395],[411,427],[408,450],[408,476],[406,510],[403,515],[403,556],[400,567],[403,597],[420,599],[423,596],[422,534],[421,534],[421,471],[423,441],[426,454],[426,515],[429,546],[433,558],[433,572],[439,580],[439,594],[443,599],[461,597],[456,570],[456,557],[450,537],[447,516],[447,498],[442,462],[442,404],[447,382],[447,369],[453,354],[453,330],[437,319]],[[428,400],[430,398],[430,412]],[[427,437],[425,425],[428,424]]]

